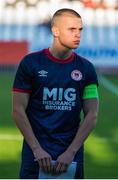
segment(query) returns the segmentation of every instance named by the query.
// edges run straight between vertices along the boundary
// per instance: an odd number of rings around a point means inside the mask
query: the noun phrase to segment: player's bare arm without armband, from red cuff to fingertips
[[[45,171],[50,171],[51,156],[40,146],[26,115],[29,96],[29,93],[13,92],[13,118],[26,142],[32,149],[34,157],[38,160],[39,166]]]

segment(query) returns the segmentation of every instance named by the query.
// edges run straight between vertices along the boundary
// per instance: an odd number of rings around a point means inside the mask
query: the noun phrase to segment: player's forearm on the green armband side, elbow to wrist
[[[97,121],[97,113],[96,112],[89,112],[86,116],[82,124],[80,125],[77,134],[70,144],[68,151],[76,154],[79,148],[82,146],[83,142],[86,140],[88,135],[94,129]]]

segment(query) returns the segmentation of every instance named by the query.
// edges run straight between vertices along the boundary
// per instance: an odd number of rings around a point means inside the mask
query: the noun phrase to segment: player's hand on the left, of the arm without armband
[[[33,153],[34,153],[35,161],[38,161],[39,163],[40,169],[42,169],[45,172],[51,172],[52,170],[51,156],[42,148],[35,149]]]

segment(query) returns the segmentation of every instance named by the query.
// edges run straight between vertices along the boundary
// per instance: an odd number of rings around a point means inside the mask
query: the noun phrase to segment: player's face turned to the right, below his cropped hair
[[[81,38],[82,20],[73,15],[64,15],[58,18],[56,27],[58,43],[69,49],[78,47]]]

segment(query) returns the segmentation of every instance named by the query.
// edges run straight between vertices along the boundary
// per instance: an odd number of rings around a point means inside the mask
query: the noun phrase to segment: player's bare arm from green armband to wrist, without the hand
[[[88,135],[91,133],[91,131],[94,129],[96,125],[98,106],[98,98],[84,99],[84,120],[81,123],[73,142],[68,148],[68,151],[72,152],[74,155],[79,150],[83,142],[87,139]]]

